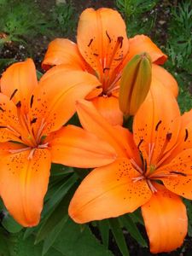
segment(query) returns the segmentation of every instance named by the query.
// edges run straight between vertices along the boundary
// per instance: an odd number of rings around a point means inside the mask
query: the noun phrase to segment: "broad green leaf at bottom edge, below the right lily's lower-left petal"
[[[61,230],[53,247],[66,256],[113,255],[96,239],[88,225],[84,225],[83,230],[81,227],[82,225],[75,224],[69,219]]]

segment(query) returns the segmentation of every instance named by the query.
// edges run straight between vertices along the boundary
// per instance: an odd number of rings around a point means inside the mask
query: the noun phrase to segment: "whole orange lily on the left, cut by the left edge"
[[[43,77],[38,83],[28,59],[9,67],[0,85],[0,195],[17,222],[34,226],[40,219],[51,162],[67,164],[73,157],[81,161],[81,152],[87,148],[90,160],[94,157],[99,166],[114,159],[107,143],[90,136],[97,145],[102,143],[102,148],[92,148],[84,143],[84,131],[62,127],[75,113],[75,102],[98,81],[89,73],[69,71]],[[55,137],[63,138],[65,147]],[[74,140],[79,151],[70,158],[67,154]]]

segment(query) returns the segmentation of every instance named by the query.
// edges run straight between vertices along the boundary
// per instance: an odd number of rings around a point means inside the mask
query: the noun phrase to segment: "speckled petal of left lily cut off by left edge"
[[[9,97],[0,93],[0,142],[20,142],[22,129],[17,108]]]

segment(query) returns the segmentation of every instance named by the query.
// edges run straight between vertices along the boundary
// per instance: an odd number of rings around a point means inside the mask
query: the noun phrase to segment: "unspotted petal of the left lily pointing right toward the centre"
[[[116,159],[108,143],[73,125],[54,132],[47,141],[52,161],[65,166],[91,168],[108,165]]]

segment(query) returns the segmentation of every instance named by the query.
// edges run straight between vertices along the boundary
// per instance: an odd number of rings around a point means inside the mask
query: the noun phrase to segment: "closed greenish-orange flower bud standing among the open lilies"
[[[123,70],[119,89],[119,108],[125,116],[134,115],[151,84],[151,59],[147,53],[135,55]]]

